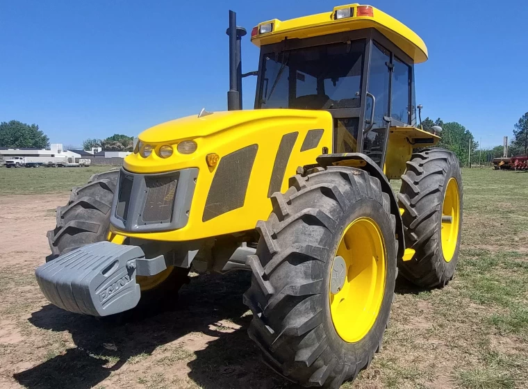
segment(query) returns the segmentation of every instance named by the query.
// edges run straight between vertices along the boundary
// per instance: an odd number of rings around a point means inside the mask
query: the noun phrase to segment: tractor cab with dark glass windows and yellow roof
[[[384,167],[391,129],[408,127],[394,137],[400,156],[402,146],[411,154],[402,142],[409,134],[424,146],[436,143],[429,133],[409,133],[416,125],[414,64],[427,60],[427,47],[381,10],[352,4],[273,19],[253,28],[251,42],[261,47],[255,108],[328,110],[332,153],[363,153]],[[394,176],[403,173],[404,164],[390,165]]]

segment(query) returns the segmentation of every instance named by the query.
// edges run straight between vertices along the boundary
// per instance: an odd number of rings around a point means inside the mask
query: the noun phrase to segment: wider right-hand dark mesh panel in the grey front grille
[[[143,222],[171,222],[176,182],[175,176],[147,177],[145,179],[147,199],[141,217]]]

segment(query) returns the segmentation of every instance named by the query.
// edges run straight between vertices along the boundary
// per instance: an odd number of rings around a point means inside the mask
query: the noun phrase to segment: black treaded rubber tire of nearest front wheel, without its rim
[[[297,175],[284,195],[272,195],[273,212],[266,222],[258,222],[261,239],[256,255],[247,260],[252,279],[244,301],[253,312],[250,338],[265,362],[291,381],[338,388],[379,351],[397,274],[389,199],[378,179],[348,167]],[[344,229],[361,216],[377,222],[386,242],[386,287],[370,331],[347,343],[333,327],[329,276]]]

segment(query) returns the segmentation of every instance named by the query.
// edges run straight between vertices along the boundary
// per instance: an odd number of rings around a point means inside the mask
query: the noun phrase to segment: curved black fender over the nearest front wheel
[[[398,258],[404,256],[405,251],[405,237],[404,237],[404,225],[402,222],[402,215],[399,214],[398,201],[393,188],[388,182],[387,176],[383,174],[383,170],[374,163],[372,159],[363,153],[344,153],[344,154],[323,154],[317,157],[317,163],[321,167],[327,166],[349,166],[356,167],[358,169],[365,170],[371,176],[379,179],[381,183],[381,189],[383,192],[388,193],[390,197],[390,213],[396,217],[396,231],[395,235],[398,240]]]

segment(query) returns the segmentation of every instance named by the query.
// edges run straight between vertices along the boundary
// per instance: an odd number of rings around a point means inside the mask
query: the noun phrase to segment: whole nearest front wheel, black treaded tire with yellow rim
[[[397,272],[395,217],[378,179],[359,169],[318,168],[290,187],[274,193],[272,214],[257,224],[248,333],[279,374],[338,388],[381,347]],[[369,242],[373,250],[361,254]]]

